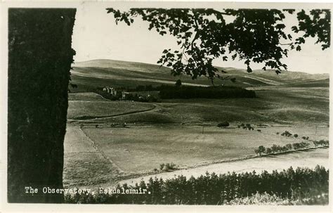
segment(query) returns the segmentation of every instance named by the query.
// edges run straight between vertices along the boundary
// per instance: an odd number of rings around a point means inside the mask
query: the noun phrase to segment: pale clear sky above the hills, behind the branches
[[[115,7],[116,8],[116,7]],[[126,11],[129,8],[119,8]],[[296,23],[292,17],[285,20],[287,27]],[[75,61],[93,59],[126,60],[157,64],[164,49],[178,49],[175,37],[159,35],[155,30],[148,30],[148,22],[137,18],[131,26],[124,22],[115,23],[112,13],[107,13],[105,6],[84,5],[77,8],[72,47],[77,52]],[[332,69],[332,48],[322,51],[314,44],[315,39],[308,39],[302,51],[290,51],[282,63],[289,71],[308,73],[329,73]],[[244,62],[238,60],[214,60],[214,65],[246,69]],[[251,64],[252,69],[261,69],[263,65]]]

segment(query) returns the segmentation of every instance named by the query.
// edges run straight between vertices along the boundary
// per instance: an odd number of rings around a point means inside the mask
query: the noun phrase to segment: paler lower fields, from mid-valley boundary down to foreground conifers
[[[143,128],[150,130],[143,131]],[[197,129],[198,127],[183,127],[177,134],[177,131],[168,125],[81,129],[68,124],[65,137],[64,185],[98,188],[115,186],[119,181],[138,183],[141,179],[147,181],[155,176],[169,179],[178,175],[200,176],[205,172],[216,174],[253,170],[271,172],[289,167],[313,168],[317,164],[329,168],[327,148],[237,160],[241,157],[254,156],[253,150],[259,143],[268,147],[273,143],[301,141],[296,138],[276,136],[273,133],[276,129],[290,130],[287,126],[266,127],[261,129],[261,133],[244,129],[209,127],[206,129],[207,136],[202,136],[201,132],[193,134],[192,131],[197,132]],[[297,130],[299,133],[306,132],[311,137],[317,135],[319,138],[327,138],[327,128],[315,130],[313,127],[293,127],[293,131]],[[138,131],[141,131],[141,134]],[[147,134],[149,131],[154,131],[155,135]],[[223,135],[228,136],[230,143],[221,138],[218,140]],[[266,140],[268,138],[273,139]],[[230,159],[236,161],[221,162]],[[179,170],[152,174],[152,169],[159,168],[159,164],[171,161],[180,166]]]

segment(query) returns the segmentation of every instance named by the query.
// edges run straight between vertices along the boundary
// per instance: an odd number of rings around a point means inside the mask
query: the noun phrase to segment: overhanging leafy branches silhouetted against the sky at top
[[[330,11],[325,9],[296,13],[294,9],[131,8],[121,12],[107,8],[107,13],[113,13],[116,23],[131,25],[138,16],[150,22],[148,30],[169,32],[179,49],[164,49],[157,63],[171,67],[174,76],[206,76],[211,82],[215,77],[223,79],[212,65],[216,58],[238,58],[247,72],[252,72],[250,63],[263,63],[263,70],[268,67],[279,74],[287,70],[282,58],[292,49],[301,51],[307,37],[315,37],[322,49],[330,46]],[[284,23],[287,13],[296,13],[298,20],[289,30]]]

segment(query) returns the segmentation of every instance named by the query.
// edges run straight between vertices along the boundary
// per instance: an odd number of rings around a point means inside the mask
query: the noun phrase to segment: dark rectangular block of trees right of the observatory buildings
[[[236,86],[161,86],[161,98],[255,98],[256,93]]]

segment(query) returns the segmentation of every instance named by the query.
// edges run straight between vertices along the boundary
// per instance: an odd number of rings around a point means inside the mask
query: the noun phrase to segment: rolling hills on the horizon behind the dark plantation
[[[282,86],[287,84],[306,84],[325,80],[329,78],[327,74],[311,75],[304,72],[282,72],[276,75],[274,70],[263,71],[254,70],[247,73],[246,70],[235,69],[232,67],[218,67],[225,70],[229,78],[236,79],[233,83],[229,80],[216,79],[214,84],[224,84],[226,86]],[[135,87],[138,85],[158,86],[160,84],[174,84],[177,79],[181,79],[183,84],[192,86],[211,86],[211,82],[206,77],[192,80],[188,76],[174,77],[168,67],[160,67],[148,63],[128,62],[121,60],[88,60],[74,64],[71,72],[72,84],[77,84],[78,88],[70,88],[71,91],[93,91],[97,86],[124,86]],[[328,81],[328,80],[327,80]],[[317,82],[318,85],[320,82]],[[325,83],[325,82],[323,82]],[[317,85],[317,86],[318,86]],[[323,84],[322,86],[327,86]]]

